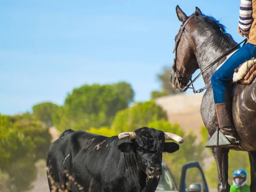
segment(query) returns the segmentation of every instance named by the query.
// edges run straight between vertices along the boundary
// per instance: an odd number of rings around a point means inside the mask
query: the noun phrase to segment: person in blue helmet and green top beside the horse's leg
[[[250,186],[245,184],[247,180],[247,172],[243,168],[236,169],[233,172],[233,185],[230,192],[250,192]]]

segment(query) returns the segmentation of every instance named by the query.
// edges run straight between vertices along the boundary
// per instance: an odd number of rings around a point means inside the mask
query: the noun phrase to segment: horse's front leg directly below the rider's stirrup
[[[229,192],[228,184],[228,153],[227,148],[211,148],[218,169],[218,192]]]

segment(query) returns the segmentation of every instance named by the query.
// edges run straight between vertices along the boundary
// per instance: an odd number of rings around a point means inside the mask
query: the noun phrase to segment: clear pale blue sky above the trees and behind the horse
[[[157,73],[172,65],[177,4],[187,15],[198,6],[243,40],[239,0],[2,0],[0,113],[31,111],[44,101],[62,105],[86,83],[127,81],[135,101],[148,100],[160,90]],[[195,86],[203,87],[202,79]]]

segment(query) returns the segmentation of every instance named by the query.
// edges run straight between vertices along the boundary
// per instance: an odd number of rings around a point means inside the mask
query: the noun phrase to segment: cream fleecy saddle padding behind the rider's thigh
[[[256,58],[251,58],[237,67],[233,74],[233,83],[251,84],[256,77]]]

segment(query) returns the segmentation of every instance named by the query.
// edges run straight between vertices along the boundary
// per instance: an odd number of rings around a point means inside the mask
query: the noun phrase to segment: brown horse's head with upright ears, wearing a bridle
[[[172,66],[171,82],[175,89],[181,89],[189,83],[192,74],[199,68],[195,57],[196,45],[193,36],[195,36],[195,18],[202,15],[200,9],[196,7],[195,14],[190,17],[176,7],[178,19],[182,22],[180,31],[175,37],[175,60]]]

